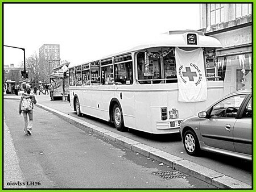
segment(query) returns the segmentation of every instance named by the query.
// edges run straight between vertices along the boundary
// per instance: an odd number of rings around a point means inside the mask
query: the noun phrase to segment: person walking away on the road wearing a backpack
[[[19,114],[22,113],[24,118],[24,134],[32,134],[33,108],[36,103],[35,95],[31,93],[30,87],[26,88],[26,92],[22,94],[19,102]],[[29,120],[28,120],[28,118]]]

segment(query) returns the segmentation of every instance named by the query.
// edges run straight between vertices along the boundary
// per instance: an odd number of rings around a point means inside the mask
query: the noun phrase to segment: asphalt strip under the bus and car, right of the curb
[[[75,116],[76,118],[82,119],[98,127],[105,128],[106,130],[118,133],[119,135],[133,139],[139,143],[147,144],[177,157],[184,158],[185,160],[195,162],[206,168],[216,170],[219,173],[223,173],[226,176],[235,178],[236,180],[245,182],[249,185],[252,183],[253,164],[250,161],[209,152],[202,152],[199,157],[189,156],[185,152],[179,134],[152,135],[134,130],[131,130],[131,132],[120,132],[117,131],[112,124],[103,120],[87,115],[83,115],[82,117],[77,116],[75,111],[70,107],[69,102],[51,102],[49,101],[48,95],[38,95],[36,98],[39,103],[45,106],[55,108],[58,111]]]

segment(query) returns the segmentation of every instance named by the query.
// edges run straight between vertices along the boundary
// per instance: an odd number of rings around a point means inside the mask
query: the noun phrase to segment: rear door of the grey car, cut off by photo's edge
[[[238,118],[234,125],[234,148],[238,153],[251,155],[251,118],[253,117],[253,110],[251,97],[248,98],[248,100],[249,101],[245,103],[245,107],[243,107],[243,111],[241,111],[241,118]]]

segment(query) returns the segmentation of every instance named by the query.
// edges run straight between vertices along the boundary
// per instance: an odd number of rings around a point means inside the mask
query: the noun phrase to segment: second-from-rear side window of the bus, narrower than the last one
[[[113,85],[114,84],[112,59],[101,62],[101,84],[102,85]]]

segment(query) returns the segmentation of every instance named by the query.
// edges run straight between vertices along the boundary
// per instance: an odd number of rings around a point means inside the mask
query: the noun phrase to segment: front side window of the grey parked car
[[[226,98],[212,107],[210,118],[236,118],[245,94]]]

